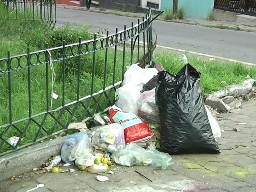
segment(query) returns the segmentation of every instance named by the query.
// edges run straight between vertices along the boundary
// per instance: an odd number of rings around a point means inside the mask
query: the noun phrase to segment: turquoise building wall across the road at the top
[[[178,0],[178,9],[184,6],[187,18],[206,19],[213,5],[214,0]],[[161,0],[161,11],[166,8],[172,9],[172,0]]]

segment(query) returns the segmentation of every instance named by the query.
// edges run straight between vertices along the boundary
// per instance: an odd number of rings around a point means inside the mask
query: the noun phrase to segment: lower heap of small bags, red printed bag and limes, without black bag
[[[79,170],[91,173],[107,172],[112,161],[122,166],[152,165],[162,169],[173,164],[169,154],[152,146],[140,147],[154,134],[139,116],[115,105],[109,108],[109,114],[105,121],[97,114],[93,121],[96,126],[67,136],[61,148],[64,163],[75,164]]]

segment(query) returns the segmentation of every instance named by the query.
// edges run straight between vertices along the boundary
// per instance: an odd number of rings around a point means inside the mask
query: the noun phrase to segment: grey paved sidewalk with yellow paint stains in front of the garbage
[[[111,166],[109,182],[100,183],[88,172],[27,173],[19,180],[0,183],[1,192],[25,192],[43,183],[36,192],[220,192],[256,191],[256,101],[245,101],[241,109],[216,117],[224,132],[219,141],[221,153],[172,156],[174,165],[167,170],[152,167]],[[246,124],[239,124],[246,123]],[[233,131],[240,128],[241,132]],[[48,158],[48,157],[46,157]],[[31,170],[33,167],[31,167]],[[134,172],[138,170],[150,182]],[[22,187],[23,186],[23,187]]]

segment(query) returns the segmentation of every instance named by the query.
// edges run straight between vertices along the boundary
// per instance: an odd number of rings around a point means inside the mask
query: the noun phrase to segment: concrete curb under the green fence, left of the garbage
[[[12,176],[31,172],[51,156],[60,155],[65,137],[45,141],[7,154],[0,160],[0,182],[9,180]]]

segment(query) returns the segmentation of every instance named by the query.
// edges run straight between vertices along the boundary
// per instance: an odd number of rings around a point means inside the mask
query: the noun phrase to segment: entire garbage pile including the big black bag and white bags
[[[164,170],[173,164],[170,155],[220,153],[220,127],[204,105],[200,76],[190,64],[176,76],[161,64],[146,69],[132,64],[109,117],[96,114],[88,125],[70,124],[68,129],[80,132],[67,136],[58,161],[105,173],[113,163]]]

